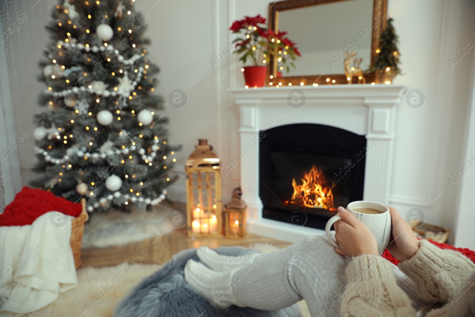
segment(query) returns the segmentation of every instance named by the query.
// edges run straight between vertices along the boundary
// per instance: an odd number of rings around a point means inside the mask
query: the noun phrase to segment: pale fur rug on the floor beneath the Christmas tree
[[[163,204],[152,211],[93,212],[84,226],[83,248],[128,244],[169,233],[181,226],[174,220],[186,219],[175,217],[176,212],[180,211]]]

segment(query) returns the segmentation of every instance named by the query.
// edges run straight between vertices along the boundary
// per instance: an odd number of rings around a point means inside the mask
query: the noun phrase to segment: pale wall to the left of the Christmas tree
[[[30,177],[30,167],[34,160],[34,138],[33,129],[38,126],[33,126],[33,115],[41,112],[42,108],[37,105],[37,96],[41,89],[46,90],[47,87],[38,81],[36,75],[39,75],[41,70],[38,67],[38,61],[42,58],[43,47],[48,40],[48,34],[44,28],[49,22],[49,13],[56,5],[54,0],[2,0],[0,1],[0,23],[2,30],[16,28],[8,38],[0,39],[0,54],[5,54],[0,59],[6,59],[7,63],[0,67],[1,77],[8,78],[10,82],[10,96],[11,110],[13,118],[10,113],[8,115],[9,124],[15,127],[15,133],[8,133],[2,131],[1,138],[5,138],[5,143],[11,144],[24,131],[28,133],[28,137],[20,144],[20,147],[12,152],[11,155],[2,162],[2,165],[16,164],[19,161],[21,173],[18,175],[12,174],[11,178],[8,175],[1,175],[4,180],[7,180],[5,187],[10,186],[6,191],[14,190],[16,192],[21,190],[21,187],[28,183]],[[27,15],[24,15],[24,14]],[[18,23],[21,17],[22,23]],[[15,23],[13,25],[13,23]],[[7,67],[5,67],[7,65]],[[3,88],[3,87],[2,87]],[[4,94],[6,95],[6,94]],[[8,98],[7,96],[3,96]],[[4,151],[2,148],[1,151]],[[11,162],[16,161],[16,162]],[[21,178],[21,179],[20,179]],[[12,182],[12,183],[10,183]],[[1,190],[1,189],[0,189]],[[0,195],[1,197],[1,195]],[[8,195],[5,204],[13,200],[12,195]],[[0,202],[0,205],[2,202]]]

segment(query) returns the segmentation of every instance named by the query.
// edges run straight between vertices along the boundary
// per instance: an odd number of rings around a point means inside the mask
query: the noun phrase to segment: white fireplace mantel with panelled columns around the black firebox
[[[391,188],[393,144],[397,107],[404,85],[321,85],[230,89],[239,107],[240,148],[256,140],[260,131],[279,125],[313,123],[365,135],[367,147],[363,199],[388,203]],[[296,93],[297,95],[295,95]],[[291,107],[293,97],[306,103]],[[296,99],[298,101],[298,99]],[[377,142],[374,140],[378,139]],[[246,151],[247,152],[247,151]],[[242,198],[248,205],[247,230],[296,242],[324,231],[262,218],[259,197],[259,151],[251,149],[240,163]]]

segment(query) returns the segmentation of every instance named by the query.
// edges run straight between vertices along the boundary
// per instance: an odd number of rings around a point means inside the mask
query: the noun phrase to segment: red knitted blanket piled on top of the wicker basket
[[[57,197],[51,192],[23,187],[21,192],[15,195],[13,202],[0,214],[0,226],[32,224],[35,219],[48,211],[59,211],[77,217],[81,214],[82,206],[80,203]]]

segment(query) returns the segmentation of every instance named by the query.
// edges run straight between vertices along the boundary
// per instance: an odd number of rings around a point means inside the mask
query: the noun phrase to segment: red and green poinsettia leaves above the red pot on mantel
[[[266,18],[260,14],[255,17],[244,17],[242,20],[236,20],[229,28],[234,33],[241,33],[232,43],[236,43],[236,50],[234,53],[241,54],[241,60],[243,64],[246,64],[247,60],[252,60],[254,66],[259,66],[259,63],[269,63],[271,56],[277,59],[277,65],[280,70],[284,67],[287,72],[291,65],[295,67],[292,62],[300,57],[295,43],[285,35],[287,32],[279,31],[274,32],[266,27]],[[289,64],[289,65],[287,65]]]

